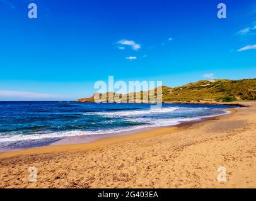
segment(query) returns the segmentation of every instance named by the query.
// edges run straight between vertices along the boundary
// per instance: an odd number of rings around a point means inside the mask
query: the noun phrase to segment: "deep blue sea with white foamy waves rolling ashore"
[[[95,104],[79,102],[0,102],[0,148],[32,147],[65,136],[117,133],[170,126],[223,114],[232,106]]]

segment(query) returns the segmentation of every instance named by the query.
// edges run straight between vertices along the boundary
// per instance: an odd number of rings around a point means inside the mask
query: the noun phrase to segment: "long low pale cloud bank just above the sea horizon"
[[[40,94],[40,93],[32,93],[32,92],[0,90],[0,97],[18,97],[18,98],[26,98],[26,99],[49,99],[49,98],[58,98],[61,96],[54,95],[54,94]]]

